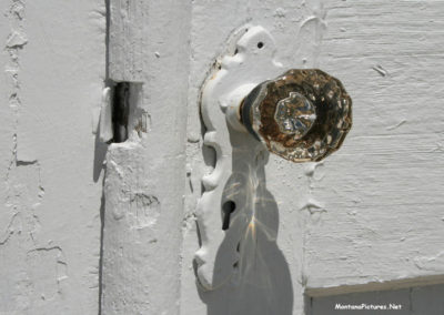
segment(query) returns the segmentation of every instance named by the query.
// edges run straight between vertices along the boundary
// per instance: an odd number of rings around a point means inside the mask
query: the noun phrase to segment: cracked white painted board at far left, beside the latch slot
[[[97,314],[104,3],[0,11],[0,314]]]

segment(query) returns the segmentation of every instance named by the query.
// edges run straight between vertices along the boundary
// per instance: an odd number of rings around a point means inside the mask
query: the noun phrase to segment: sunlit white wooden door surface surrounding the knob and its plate
[[[443,10],[443,1],[193,4],[192,140],[199,134],[196,104],[205,71],[230,33],[246,21],[272,32],[285,67],[325,70],[353,99],[354,126],[336,154],[305,165],[271,156],[266,165],[268,189],[279,205],[278,245],[291,274],[286,302],[292,314],[303,313],[303,292],[325,295],[346,292],[345,285],[366,291],[442,283]],[[201,143],[189,143],[189,181],[194,187],[188,196],[189,216],[200,195],[196,183],[209,172],[201,150]],[[266,306],[275,302],[265,294],[249,295],[236,287],[193,291],[191,258],[198,245],[191,220],[188,227],[182,314],[271,314]],[[367,285],[371,282],[383,284]],[[269,287],[271,296],[284,295],[284,287]],[[281,308],[276,314],[287,313]]]

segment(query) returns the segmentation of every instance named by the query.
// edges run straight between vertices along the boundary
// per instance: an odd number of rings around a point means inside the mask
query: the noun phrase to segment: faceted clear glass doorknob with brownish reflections
[[[293,69],[254,88],[242,101],[241,120],[272,153],[293,162],[321,161],[352,128],[352,100],[327,73]]]

